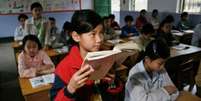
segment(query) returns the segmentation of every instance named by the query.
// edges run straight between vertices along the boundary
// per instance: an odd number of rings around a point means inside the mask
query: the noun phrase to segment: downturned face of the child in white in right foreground
[[[148,58],[147,65],[151,71],[160,71],[163,68],[163,64],[165,63],[165,60],[162,58],[158,58],[155,60],[151,60]]]

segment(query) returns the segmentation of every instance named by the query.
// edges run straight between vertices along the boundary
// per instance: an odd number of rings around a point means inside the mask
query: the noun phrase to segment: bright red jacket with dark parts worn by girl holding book
[[[54,90],[54,101],[74,101],[74,99],[64,95],[64,87],[67,86],[72,75],[80,69],[82,62],[83,59],[80,55],[79,48],[77,46],[73,46],[69,54],[56,67],[55,75],[57,78],[60,79],[59,82],[63,82],[63,84],[60,83],[60,87],[56,87],[59,89]],[[57,81],[58,80],[55,80],[55,84],[53,86],[58,85]],[[63,85],[63,87],[61,86],[61,84]],[[78,99],[76,100],[89,101],[89,97],[92,94],[92,87],[93,81],[87,81],[83,87],[76,91],[76,94],[78,96]]]

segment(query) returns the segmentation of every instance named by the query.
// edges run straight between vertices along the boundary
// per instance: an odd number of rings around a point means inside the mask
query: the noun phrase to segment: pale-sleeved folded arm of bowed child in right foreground
[[[143,83],[138,80],[139,78],[133,78],[126,83],[126,93],[129,98],[125,101],[169,101],[170,95],[164,88],[156,90],[145,90]]]

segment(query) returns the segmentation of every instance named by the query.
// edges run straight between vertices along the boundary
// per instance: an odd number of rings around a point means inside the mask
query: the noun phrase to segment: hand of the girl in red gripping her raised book
[[[86,64],[81,67],[71,78],[70,82],[67,85],[67,89],[70,93],[75,93],[76,90],[85,85],[88,80],[88,76],[94,71],[94,69]]]

